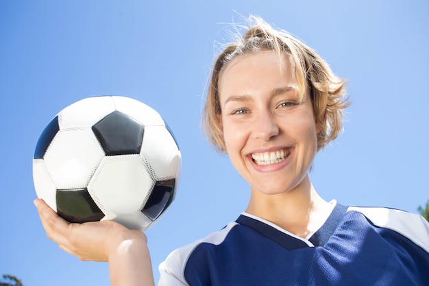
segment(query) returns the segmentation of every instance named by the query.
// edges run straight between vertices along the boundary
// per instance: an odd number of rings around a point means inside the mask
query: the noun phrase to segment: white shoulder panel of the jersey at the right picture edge
[[[381,207],[350,206],[349,212],[361,213],[374,226],[393,230],[429,252],[429,224],[421,215]]]

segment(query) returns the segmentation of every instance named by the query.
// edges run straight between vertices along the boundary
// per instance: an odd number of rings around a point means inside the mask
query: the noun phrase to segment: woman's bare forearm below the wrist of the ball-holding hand
[[[155,285],[145,237],[122,241],[110,252],[108,261],[112,286]]]

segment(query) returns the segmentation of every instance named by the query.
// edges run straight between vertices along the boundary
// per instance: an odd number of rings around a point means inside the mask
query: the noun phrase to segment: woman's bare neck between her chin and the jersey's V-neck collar
[[[271,195],[252,189],[246,212],[305,238],[322,226],[333,207],[319,196],[306,176],[286,193]]]

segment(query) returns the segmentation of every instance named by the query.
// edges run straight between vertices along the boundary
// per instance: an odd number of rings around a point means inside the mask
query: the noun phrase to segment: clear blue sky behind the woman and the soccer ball
[[[244,211],[249,187],[199,128],[204,88],[228,23],[257,14],[347,78],[345,131],[310,175],[326,200],[417,213],[429,199],[428,1],[0,0],[0,275],[25,286],[108,285],[107,263],[47,239],[32,204],[40,132],[84,97],[123,95],[160,112],[182,150],[169,212],[147,231],[158,264]]]

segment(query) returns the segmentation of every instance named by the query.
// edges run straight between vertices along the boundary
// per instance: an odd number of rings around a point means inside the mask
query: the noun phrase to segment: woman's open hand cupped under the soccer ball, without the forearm
[[[108,261],[110,254],[117,251],[124,241],[137,239],[147,244],[145,234],[138,230],[129,230],[111,221],[71,224],[43,200],[36,199],[34,204],[49,239],[83,261]]]

